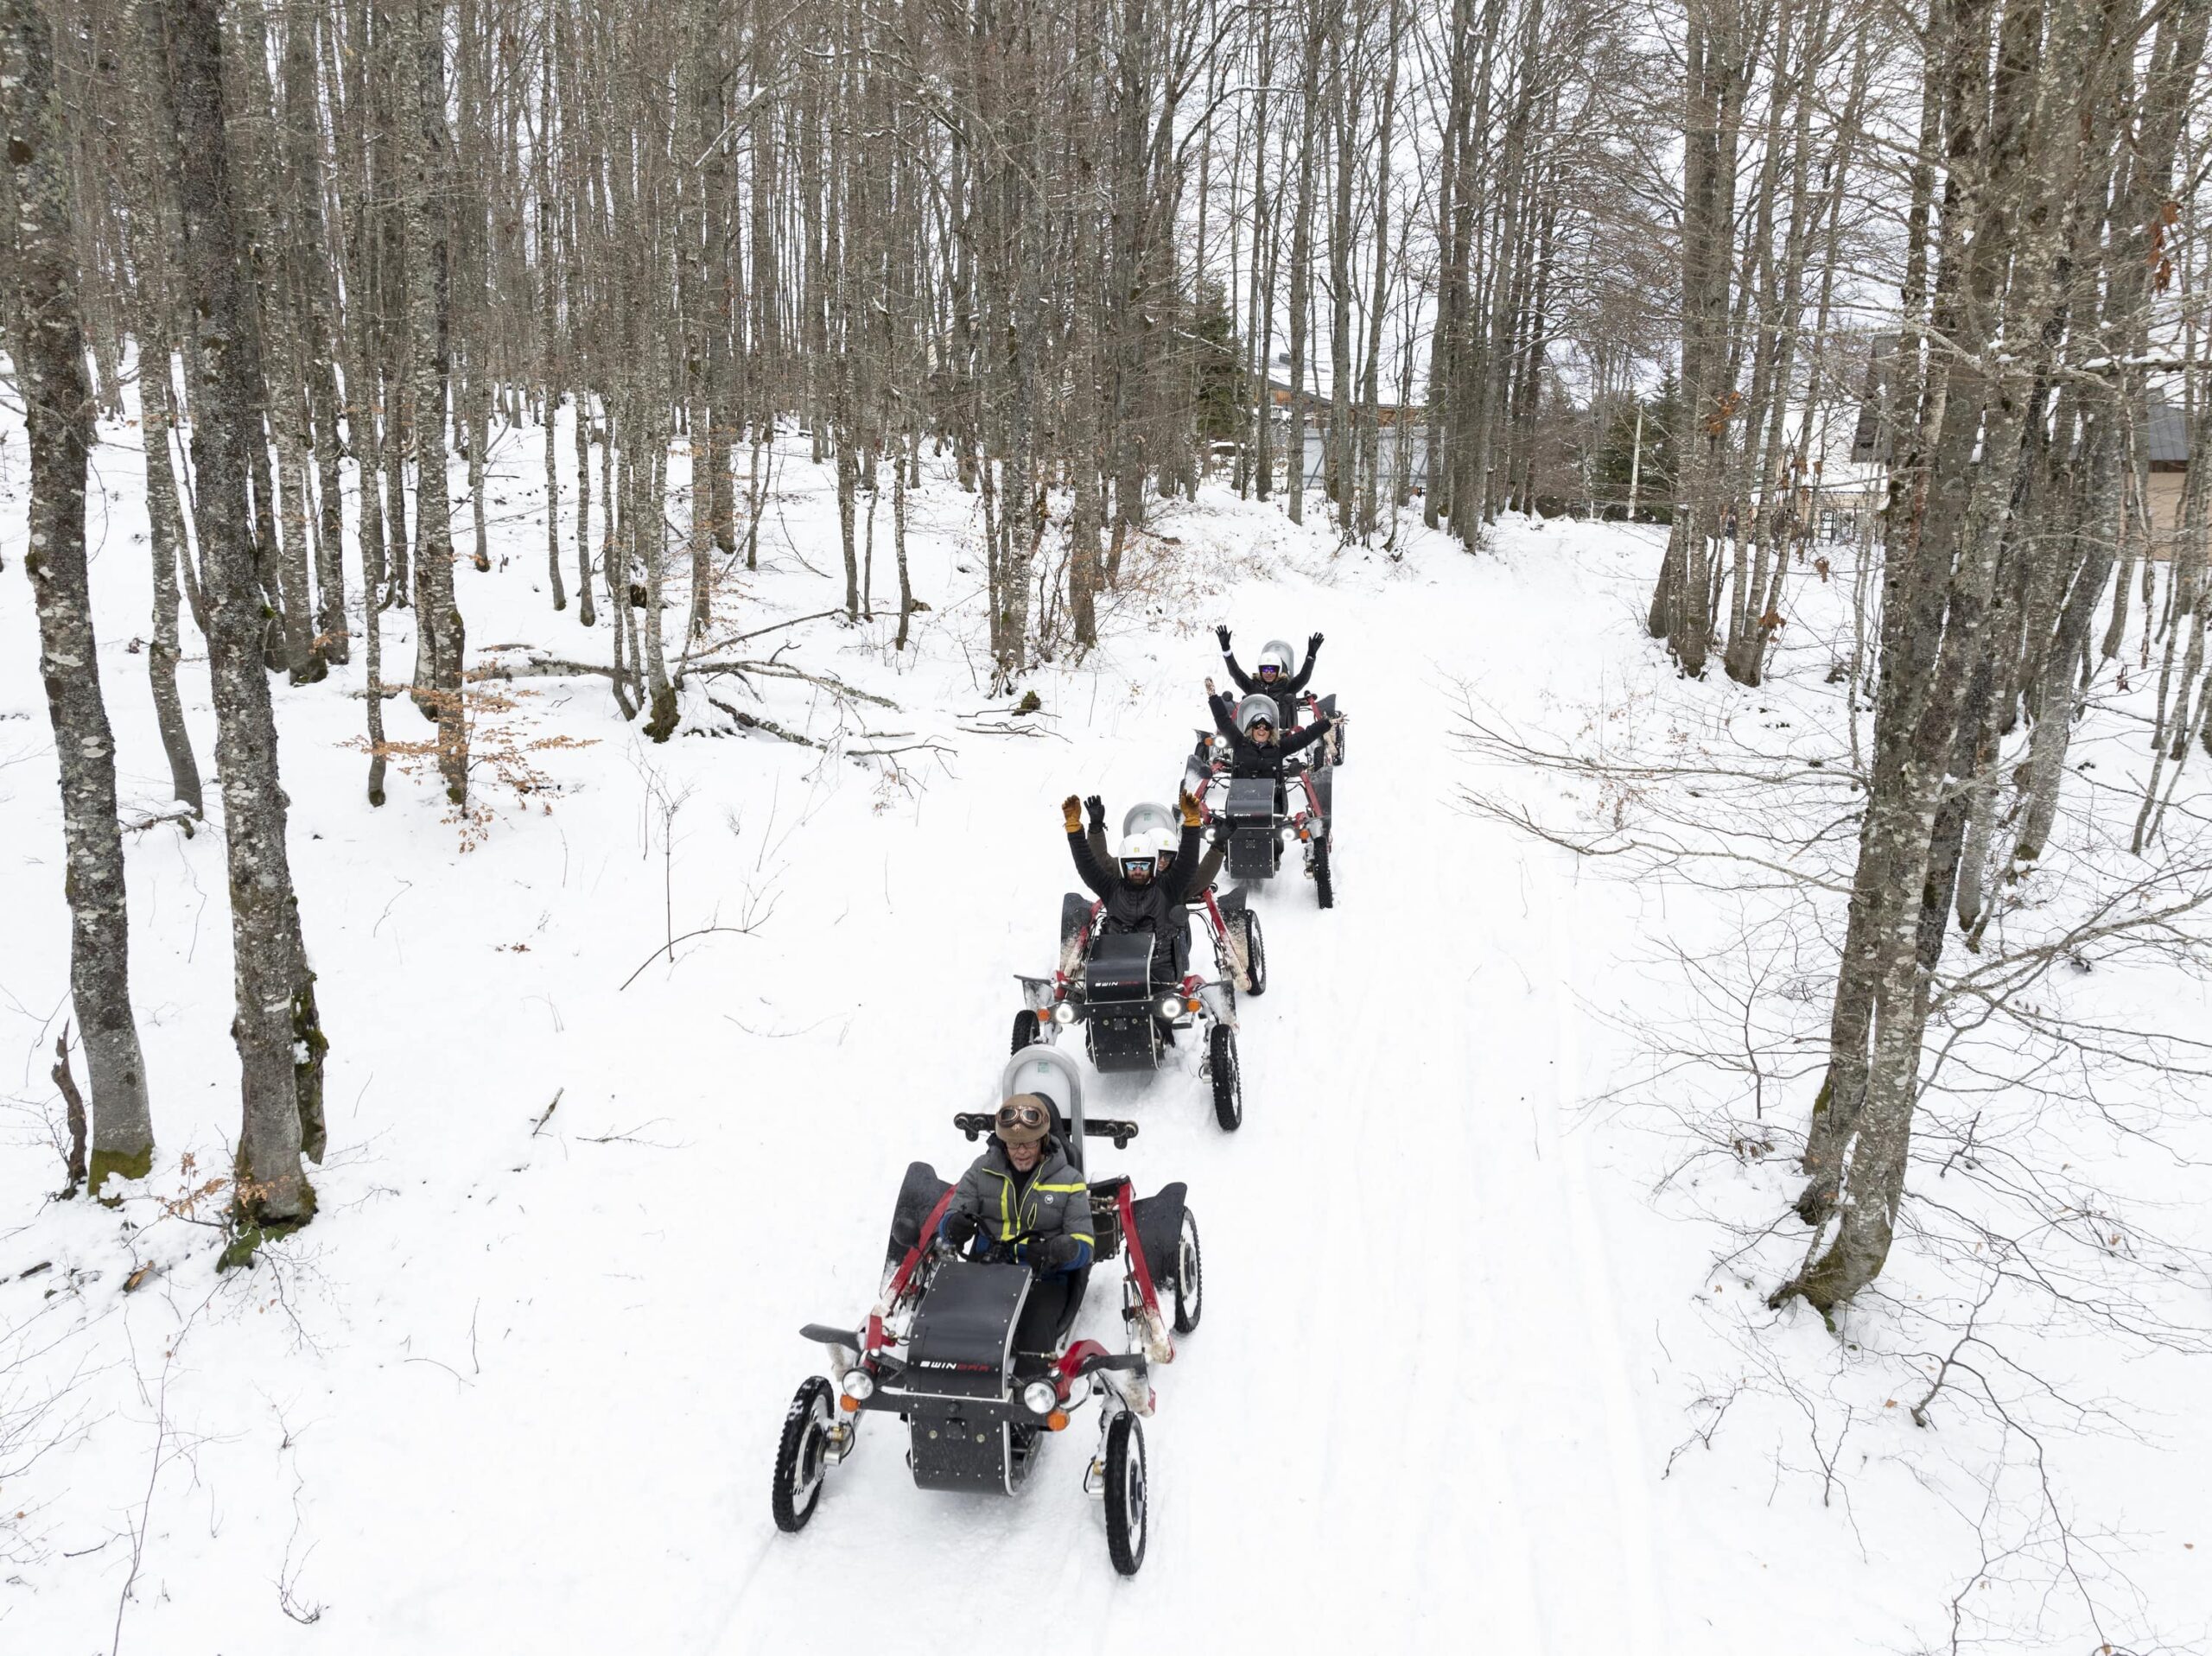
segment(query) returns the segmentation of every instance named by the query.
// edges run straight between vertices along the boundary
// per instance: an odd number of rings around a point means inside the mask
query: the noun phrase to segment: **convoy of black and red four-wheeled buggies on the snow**
[[[947,1225],[956,1183],[925,1161],[911,1163],[891,1207],[874,1307],[849,1324],[801,1329],[825,1353],[827,1373],[799,1386],[776,1444],[770,1506],[785,1532],[810,1523],[830,1472],[854,1453],[869,1415],[905,1424],[916,1486],[1015,1495],[1053,1435],[1095,1406],[1097,1450],[1084,1466],[1084,1490],[1102,1503],[1115,1570],[1133,1576],[1144,1563],[1150,1510],[1141,1422],[1155,1406],[1155,1369],[1175,1360],[1175,1335],[1199,1327],[1203,1258],[1181,1183],[1139,1196],[1128,1174],[1095,1170],[1091,1147],[1106,1141],[1126,1150],[1139,1123],[1084,1110],[1086,1066],[1068,1037],[1082,1030],[1084,1059],[1099,1075],[1159,1072],[1170,1052],[1194,1041],[1214,1119],[1234,1132],[1243,1123],[1239,997],[1267,991],[1252,895],[1298,860],[1321,906],[1336,900],[1332,794],[1345,730],[1334,696],[1305,694],[1321,635],[1310,639],[1301,672],[1290,672],[1292,646],[1270,641],[1248,679],[1230,654],[1228,632],[1217,632],[1230,674],[1250,688],[1237,703],[1210,696],[1217,727],[1199,732],[1179,807],[1186,825],[1212,838],[1197,876],[1219,867],[1230,889],[1217,893],[1212,880],[1194,889],[1177,915],[1181,937],[1172,926],[1117,924],[1121,906],[1097,889],[1068,893],[1053,973],[1018,979],[1022,1010],[998,1077],[1006,1103],[951,1119],[969,1143],[989,1145],[991,1134],[1006,1139],[1015,1112],[1024,1119],[1042,1112],[1046,1143],[1075,1170],[1071,1185],[1048,1189],[1075,1189],[1075,1201],[1088,1203],[1082,1220],[1088,1256],[1077,1269],[1044,1271],[1029,1258],[1031,1236],[1015,1227],[1013,1214],[987,1225],[971,1245],[956,1245]],[[1303,730],[1301,712],[1310,716]],[[1079,838],[1073,807],[1068,800],[1071,842]],[[1102,840],[1097,798],[1091,816],[1093,840]],[[1175,820],[1177,811],[1150,803],[1124,814],[1121,878],[1144,876],[1135,847],[1175,856],[1164,845]],[[1181,836],[1181,845],[1192,838]],[[1212,973],[1197,971],[1201,935]],[[1093,1280],[1113,1267],[1119,1349],[1075,1338]]]

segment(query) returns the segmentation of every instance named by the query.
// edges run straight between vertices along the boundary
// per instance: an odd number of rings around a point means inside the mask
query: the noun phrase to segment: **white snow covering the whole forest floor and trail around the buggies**
[[[106,438],[93,584],[139,820],[168,805],[135,646],[139,455]],[[1980,1570],[1980,1439],[1885,1411],[1849,1324],[1776,1320],[1772,1274],[1714,1267],[1703,1209],[1770,1223],[1781,1170],[1723,1159],[1699,1174],[1710,1203],[1683,1203],[1655,1192],[1679,1143],[1590,1108],[1650,1066],[1632,1026],[1683,1006],[1652,942],[1712,933],[1725,904],[1606,880],[1462,807],[1462,688],[1553,732],[1593,708],[1816,708],[1816,628],[1767,692],[1679,685],[1637,626],[1639,531],[1520,524],[1482,557],[1413,533],[1394,562],[1210,493],[1161,509],[1104,646],[1035,674],[1042,710],[1004,734],[975,665],[975,524],[933,473],[911,650],[885,621],[743,646],[787,643],[785,663],[894,708],[723,677],[655,747],[599,679],[518,681],[478,750],[504,745],[533,787],[484,769],[469,825],[420,776],[365,803],[356,650],[276,688],[332,1041],[321,1216],[217,1276],[221,1196],[192,1194],[237,1130],[217,827],[131,834],[155,1172],[119,1209],[42,1205],[66,911],[20,429],[4,467],[0,1422],[24,1422],[0,1446],[7,1649],[1944,1647]],[[597,661],[604,612],[584,635],[549,606],[540,475],[538,433],[509,433],[493,570],[458,568],[471,654]],[[896,601],[887,531],[876,593]],[[726,577],[717,632],[832,608],[836,566],[834,502],[792,442],[761,570]],[[1106,1561],[1086,1428],[993,1501],[916,1490],[874,1419],[783,1537],[768,1468],[816,1362],[796,1329],[874,1298],[905,1163],[969,1154],[949,1114],[991,1101],[1013,973],[1044,968],[1073,884],[1057,800],[1102,792],[1119,816],[1172,789],[1217,619],[1245,650],[1327,632],[1318,688],[1354,716],[1352,763],[1338,906],[1301,880],[1256,898],[1272,988],[1245,1002],[1243,1130],[1214,1128],[1188,1061],[1099,1088],[1144,1125],[1099,1161],[1188,1181],[1206,1240],[1208,1318],[1148,1424],[1144,1574]],[[409,617],[385,621],[403,679]],[[190,635],[188,657],[208,765]],[[830,750],[737,734],[708,696]],[[387,716],[427,732],[405,701]],[[655,960],[703,926],[745,931]],[[1805,1094],[1770,1108],[1794,1123]],[[2081,1373],[2141,1411],[2141,1439],[2055,1437],[2053,1475],[2084,1526],[2124,1537],[2141,1625],[2188,1647],[2212,1614],[2212,1532],[2190,1528],[2212,1481],[2201,1375],[2132,1351]],[[1712,1430],[1699,1400],[1730,1395]],[[2051,1599],[2044,1632],[2070,1638],[2081,1616]]]

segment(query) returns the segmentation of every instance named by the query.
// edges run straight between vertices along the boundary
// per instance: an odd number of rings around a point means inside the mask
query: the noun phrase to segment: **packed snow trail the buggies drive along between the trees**
[[[1562,1121],[1577,1081],[1562,1075],[1571,964],[1551,913],[1564,871],[1451,803],[1451,677],[1467,661],[1482,677],[1544,672],[1546,628],[1484,601],[1509,579],[1495,559],[1433,573],[1347,559],[1327,586],[1261,581],[1221,601],[1243,654],[1327,632],[1314,688],[1352,714],[1338,904],[1323,913],[1294,867],[1252,893],[1270,991],[1241,1002],[1241,1132],[1214,1128],[1194,1055],[1150,1086],[1093,1088],[1093,1108],[1144,1125],[1126,1154],[1099,1147],[1097,1167],[1141,1189],[1188,1181],[1206,1243],[1206,1324],[1157,1377],[1146,1424],[1144,1574],[1104,1568],[1077,1490],[1086,1419],[1011,1503],[914,1490],[896,1422],[872,1419],[812,1528],[750,1570],[714,1649],[770,1629],[790,1641],[792,1605],[847,1565],[909,1627],[947,1629],[925,1645],[951,1647],[1009,1554],[1066,1594],[1099,1649],[1164,1614],[1192,1647],[1431,1649],[1482,1627],[1498,1647],[1559,1656],[1657,1649],[1648,1472]],[[1141,692],[1060,761],[1066,787],[1106,792],[1110,816],[1172,778],[1203,719],[1199,681],[1221,677],[1203,632],[1157,654]],[[1057,838],[1035,814],[1015,831]],[[1011,889],[1009,971],[1042,960],[1066,884]],[[1011,982],[1000,1004],[1011,1013]],[[975,1052],[969,1086],[993,1063]],[[911,1132],[914,1154],[960,1165],[927,1112]],[[805,1373],[796,1342],[790,1371]],[[772,1406],[781,1395],[754,1404],[763,1419]]]

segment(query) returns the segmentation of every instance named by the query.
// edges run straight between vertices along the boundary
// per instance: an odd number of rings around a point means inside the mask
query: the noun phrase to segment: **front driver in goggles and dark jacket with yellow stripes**
[[[1004,1249],[1037,1274],[1013,1349],[1051,1351],[1095,1247],[1091,1187],[1053,1136],[1051,1101],[1015,1092],[998,1105],[991,1143],[953,1185],[938,1236],[971,1258]]]

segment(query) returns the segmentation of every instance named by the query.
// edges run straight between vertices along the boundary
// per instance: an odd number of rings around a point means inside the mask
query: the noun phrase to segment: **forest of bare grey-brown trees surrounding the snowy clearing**
[[[192,816],[181,612],[208,639],[239,1187],[294,1225],[325,1044],[270,674],[358,650],[367,800],[427,756],[467,803],[458,570],[489,568],[495,442],[542,451],[549,601],[666,741],[779,431],[834,471],[845,617],[896,615],[900,646],[907,497],[925,455],[956,467],[998,690],[1095,646],[1130,537],[1206,482],[1343,546],[1427,522],[1469,553],[1502,513],[1641,497],[1668,524],[1652,637],[1756,685],[1867,416],[1874,741],[1783,1289],[1849,1300],[1891,1238],[1931,962],[2044,847],[2090,672],[2159,661],[2139,851],[2208,734],[2212,420],[2179,528],[2146,484],[2152,396],[2201,402],[2208,15],[9,0],[91,1183],[153,1147],[102,705],[126,692],[71,670],[95,418],[146,433],[144,661]],[[394,608],[414,661],[385,657]]]

